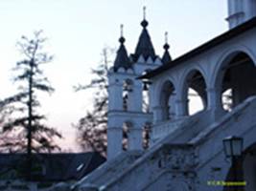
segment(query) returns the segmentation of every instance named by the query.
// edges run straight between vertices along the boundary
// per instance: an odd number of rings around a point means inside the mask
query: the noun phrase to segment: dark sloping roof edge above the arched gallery
[[[204,44],[198,46],[198,48],[185,53],[179,57],[177,57],[175,60],[166,63],[163,66],[160,66],[159,68],[149,72],[148,74],[144,74],[138,77],[138,79],[144,79],[144,78],[151,78],[153,76],[156,76],[158,74],[161,74],[165,72],[166,70],[169,70],[171,68],[174,68],[175,66],[181,64],[183,61],[186,61],[193,56],[198,55],[199,53],[203,53],[205,51],[208,51],[209,49],[221,44],[223,41],[227,41],[243,32],[246,32],[249,29],[252,29],[256,27],[256,17],[253,17],[252,19],[244,22],[243,24],[239,25],[238,27],[235,27],[234,29],[229,30],[228,32],[224,32],[221,35],[213,38],[212,40],[209,40],[205,42]]]

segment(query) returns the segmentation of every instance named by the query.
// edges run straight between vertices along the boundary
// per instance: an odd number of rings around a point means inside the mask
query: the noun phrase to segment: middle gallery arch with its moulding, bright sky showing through
[[[189,97],[191,93],[193,93],[193,96],[198,96],[201,99],[201,107],[202,109],[206,109],[207,107],[207,93],[206,89],[208,87],[208,80],[207,75],[204,72],[204,70],[199,67],[191,67],[187,69],[181,77],[180,80],[180,89],[178,90],[178,96],[177,97],[183,104],[184,107],[184,114],[188,115],[190,106],[193,105],[193,103],[189,103]],[[198,102],[198,101],[197,101]],[[198,109],[199,111],[200,109]],[[196,113],[198,112],[197,109],[195,110]]]

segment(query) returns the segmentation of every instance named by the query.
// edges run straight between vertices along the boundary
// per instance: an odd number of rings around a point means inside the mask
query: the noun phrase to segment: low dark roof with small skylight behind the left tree
[[[105,162],[99,153],[34,154],[33,180],[80,180]],[[0,154],[0,179],[24,179],[26,154]],[[25,168],[24,168],[25,167]]]

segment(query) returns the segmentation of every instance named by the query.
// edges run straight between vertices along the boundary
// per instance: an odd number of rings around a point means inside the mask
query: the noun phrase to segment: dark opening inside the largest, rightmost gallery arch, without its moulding
[[[217,77],[221,80],[221,106],[227,112],[247,97],[256,96],[256,67],[246,53],[229,55]]]

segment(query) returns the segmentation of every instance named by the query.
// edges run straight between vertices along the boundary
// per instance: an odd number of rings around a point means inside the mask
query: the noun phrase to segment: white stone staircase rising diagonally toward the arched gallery
[[[76,183],[73,190],[197,190],[197,174],[222,155],[221,139],[234,129],[237,136],[256,131],[255,113],[256,98],[249,97],[212,124],[202,120],[207,112],[189,117],[147,152],[127,152],[107,161]]]

